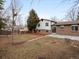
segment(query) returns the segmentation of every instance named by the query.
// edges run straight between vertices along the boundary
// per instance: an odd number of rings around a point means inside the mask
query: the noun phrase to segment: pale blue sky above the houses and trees
[[[24,23],[31,9],[34,9],[39,18],[51,19],[56,17],[63,19],[69,9],[73,6],[74,0],[16,0],[16,6],[22,7],[20,14]],[[6,0],[5,8],[9,7],[11,0]]]

